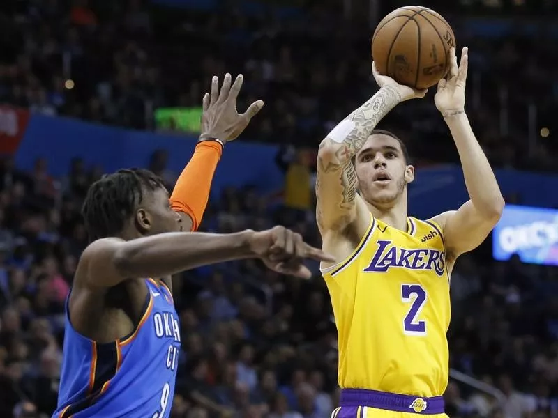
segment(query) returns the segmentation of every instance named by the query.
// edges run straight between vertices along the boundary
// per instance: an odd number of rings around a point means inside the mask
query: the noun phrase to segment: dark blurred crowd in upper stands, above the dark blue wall
[[[368,13],[356,13],[368,1],[348,1],[355,10],[350,20],[343,18],[347,1],[283,2],[307,7],[280,15],[265,8],[243,13],[242,1],[213,2],[220,5],[215,12],[142,0],[2,2],[0,101],[151,130],[155,109],[199,107],[212,75],[243,72],[239,108],[259,98],[267,103],[245,137],[315,147],[375,92],[370,23],[362,18]],[[479,6],[550,17],[556,1],[423,3],[451,22],[458,46],[469,46],[467,111],[491,162],[555,170],[558,82],[548,57],[558,53],[558,42],[552,41],[552,19],[531,26],[513,20],[517,30],[499,37],[493,35],[500,26],[472,31],[465,19]],[[385,3],[377,19],[393,7]],[[407,141],[418,162],[455,161],[431,90],[425,100],[396,108],[384,127]]]

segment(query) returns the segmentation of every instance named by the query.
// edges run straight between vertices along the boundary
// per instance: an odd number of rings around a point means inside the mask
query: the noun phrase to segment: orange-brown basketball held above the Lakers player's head
[[[372,36],[372,59],[378,72],[400,84],[428,88],[449,71],[455,36],[434,10],[406,6],[379,22]]]

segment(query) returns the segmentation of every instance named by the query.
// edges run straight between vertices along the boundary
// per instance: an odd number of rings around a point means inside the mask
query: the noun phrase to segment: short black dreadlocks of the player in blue
[[[120,233],[126,219],[143,201],[144,192],[159,187],[165,187],[163,180],[144,169],[122,169],[97,180],[89,187],[82,207],[89,239]]]

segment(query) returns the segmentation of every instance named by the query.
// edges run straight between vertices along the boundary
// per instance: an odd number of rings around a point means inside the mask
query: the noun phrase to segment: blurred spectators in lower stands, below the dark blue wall
[[[157,158],[151,169],[175,176]],[[1,162],[0,417],[55,408],[64,300],[86,246],[79,208],[98,175],[81,160],[66,178],[51,178],[40,160],[29,173]],[[318,243],[312,212],[270,201],[250,187],[225,189],[202,229],[280,222]],[[496,263],[488,247],[455,266],[449,341],[451,366],[489,386],[452,380],[448,414],[558,417],[556,269]],[[239,261],[182,274],[174,288],[183,348],[173,417],[329,417],[338,401],[338,352],[319,274],[301,281]]]

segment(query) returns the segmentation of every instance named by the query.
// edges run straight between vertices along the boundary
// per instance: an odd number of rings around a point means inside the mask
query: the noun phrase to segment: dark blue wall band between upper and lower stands
[[[100,165],[107,172],[123,167],[147,167],[156,149],[167,150],[168,169],[180,173],[190,160],[197,138],[179,134],[156,134],[126,130],[32,114],[15,155],[18,167],[31,170],[39,157],[47,160],[50,173],[68,174],[74,157],[88,165]],[[316,139],[316,147],[319,139]],[[243,142],[242,137],[227,144],[213,180],[212,192],[223,187],[252,185],[263,194],[282,189],[284,173],[276,164],[279,147]],[[517,196],[529,206],[558,208],[558,176],[515,170],[496,170],[504,196]],[[409,185],[409,214],[428,219],[446,210],[455,210],[469,199],[461,167],[446,165],[418,168]]]

